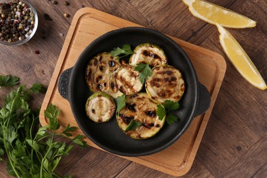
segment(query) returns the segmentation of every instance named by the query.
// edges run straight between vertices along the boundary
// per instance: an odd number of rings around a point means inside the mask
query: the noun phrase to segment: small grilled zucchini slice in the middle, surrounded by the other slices
[[[123,64],[118,73],[116,73],[116,87],[126,95],[140,92],[143,84],[139,79],[139,75],[140,73],[134,71],[133,66]]]

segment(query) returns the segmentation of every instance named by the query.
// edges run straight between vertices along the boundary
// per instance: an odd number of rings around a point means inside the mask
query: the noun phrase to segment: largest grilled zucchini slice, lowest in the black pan
[[[126,105],[116,114],[120,129],[135,139],[146,139],[155,136],[162,129],[165,118],[160,120],[157,116],[157,104],[149,99],[147,93],[131,94],[125,99]],[[142,125],[134,130],[125,131],[131,120]]]

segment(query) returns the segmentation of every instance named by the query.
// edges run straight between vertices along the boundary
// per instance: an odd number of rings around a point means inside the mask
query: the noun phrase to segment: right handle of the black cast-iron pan
[[[196,107],[195,116],[199,116],[206,112],[207,109],[209,109],[210,101],[211,98],[209,91],[205,86],[203,86],[203,84],[199,83],[199,105]]]

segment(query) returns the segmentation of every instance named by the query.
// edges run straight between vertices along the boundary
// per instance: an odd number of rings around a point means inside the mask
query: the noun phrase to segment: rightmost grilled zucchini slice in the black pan
[[[165,100],[177,102],[183,96],[185,83],[180,71],[174,66],[155,66],[145,88],[150,99],[157,103],[164,103]]]

